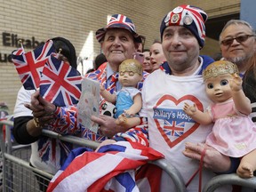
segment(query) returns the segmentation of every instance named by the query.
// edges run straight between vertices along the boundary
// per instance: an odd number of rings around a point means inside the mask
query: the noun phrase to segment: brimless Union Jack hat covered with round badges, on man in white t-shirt
[[[196,36],[198,44],[204,46],[205,26],[208,16],[199,7],[183,4],[174,8],[164,16],[160,27],[161,40],[163,40],[164,29],[169,26],[183,26],[188,28]]]

